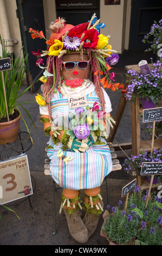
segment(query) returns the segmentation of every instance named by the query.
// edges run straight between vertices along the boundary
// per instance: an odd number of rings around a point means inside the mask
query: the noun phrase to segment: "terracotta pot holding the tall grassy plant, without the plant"
[[[15,111],[17,111],[17,109],[15,109]],[[14,120],[6,123],[0,123],[0,144],[7,144],[16,141],[20,127],[20,119],[21,115],[19,114]]]

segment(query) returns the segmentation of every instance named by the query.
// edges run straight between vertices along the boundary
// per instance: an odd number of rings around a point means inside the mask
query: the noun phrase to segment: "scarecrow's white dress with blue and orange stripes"
[[[95,91],[86,95],[88,106],[93,107],[94,102],[98,102],[99,110],[101,103]],[[57,90],[51,100],[51,114],[54,124],[59,126],[62,123],[70,129],[69,113],[75,109],[70,109],[68,99],[65,99]],[[86,108],[86,107],[85,107]],[[54,145],[50,139],[49,145],[53,149],[48,149],[47,154],[50,161],[50,173],[54,181],[62,188],[70,190],[81,190],[101,186],[105,176],[112,171],[111,151],[106,145],[105,139],[100,138],[105,144],[92,145],[84,153],[75,153],[67,149],[63,151],[64,156],[72,156],[73,159],[68,164],[63,162],[62,157],[57,153],[62,148],[61,142]]]

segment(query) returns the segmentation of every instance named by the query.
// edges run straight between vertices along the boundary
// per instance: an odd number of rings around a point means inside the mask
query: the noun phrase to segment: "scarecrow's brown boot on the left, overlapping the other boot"
[[[87,242],[89,238],[88,230],[82,221],[80,210],[76,209],[72,214],[68,214],[66,209],[63,209],[63,211],[67,218],[69,232],[73,238],[80,243]]]

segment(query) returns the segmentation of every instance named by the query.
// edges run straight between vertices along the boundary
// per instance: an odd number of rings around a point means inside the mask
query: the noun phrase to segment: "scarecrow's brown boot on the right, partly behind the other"
[[[102,208],[103,208],[103,202],[100,202]],[[88,235],[89,237],[93,235],[96,227],[98,226],[100,214],[92,214],[89,212],[86,212],[85,216],[83,217],[83,223],[85,224],[86,228],[88,229]]]

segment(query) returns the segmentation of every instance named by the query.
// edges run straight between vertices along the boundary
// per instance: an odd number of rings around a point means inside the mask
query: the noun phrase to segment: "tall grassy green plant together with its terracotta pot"
[[[1,35],[0,44],[2,45],[2,57],[0,57],[0,59],[8,58],[8,53],[3,45]],[[20,127],[20,118],[22,117],[19,106],[25,110],[28,117],[31,119],[27,109],[23,107],[23,103],[28,102],[18,102],[18,99],[31,87],[29,86],[20,93],[22,80],[25,77],[25,66],[28,60],[28,56],[21,59],[21,51],[15,59],[13,56],[11,57],[11,69],[4,70],[3,74],[0,72],[0,144],[16,141]],[[6,101],[3,84],[5,88]],[[23,117],[22,119],[29,132],[27,123]],[[12,134],[12,130],[14,130],[15,134]]]

